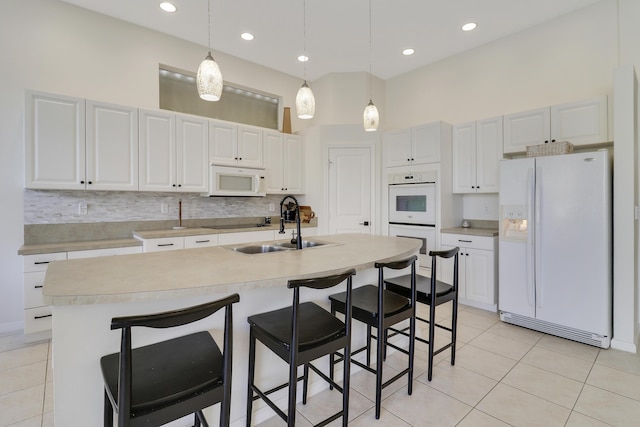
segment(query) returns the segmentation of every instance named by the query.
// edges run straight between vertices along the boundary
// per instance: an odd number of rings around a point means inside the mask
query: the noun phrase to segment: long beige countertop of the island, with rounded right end
[[[416,239],[366,234],[315,236],[327,245],[248,255],[228,247],[185,249],[114,257],[55,261],[44,281],[52,305],[169,299],[284,286],[289,279],[347,268],[373,268],[376,261],[416,253]],[[237,246],[237,245],[234,245]]]

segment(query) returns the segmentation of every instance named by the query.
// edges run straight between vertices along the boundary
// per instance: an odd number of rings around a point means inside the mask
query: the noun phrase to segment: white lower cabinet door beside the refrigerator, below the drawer
[[[494,253],[480,249],[465,248],[465,297],[487,305],[496,304],[496,281]]]

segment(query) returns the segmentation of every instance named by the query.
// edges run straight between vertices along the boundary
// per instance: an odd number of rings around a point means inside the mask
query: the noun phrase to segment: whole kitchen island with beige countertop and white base
[[[101,425],[99,360],[117,352],[120,339],[119,331],[110,330],[111,318],[178,309],[236,292],[240,303],[234,306],[231,420],[243,424],[249,343],[246,318],[290,305],[292,294],[286,287],[290,279],[355,268],[355,286],[372,283],[377,279],[373,269],[376,261],[416,254],[420,246],[415,239],[363,234],[315,236],[312,240],[324,245],[252,255],[231,247],[210,247],[52,263],[44,295],[54,314],[55,425]],[[335,290],[303,292],[302,298],[328,307],[326,297],[332,292]],[[220,342],[222,317],[218,314],[172,330],[134,330],[134,346],[202,329],[210,330]],[[364,342],[362,332],[354,329],[354,342]],[[286,365],[268,352],[258,351],[257,381],[265,385],[284,382]],[[310,392],[324,387],[315,381]],[[270,409],[256,407],[261,408],[256,410],[256,422],[273,415]],[[217,410],[209,411],[208,417],[215,425]],[[189,424],[178,421],[172,425]]]

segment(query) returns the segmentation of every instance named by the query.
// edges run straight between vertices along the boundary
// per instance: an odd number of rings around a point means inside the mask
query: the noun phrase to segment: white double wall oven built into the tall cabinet
[[[418,263],[431,268],[436,248],[436,172],[389,175],[389,235],[422,242]]]

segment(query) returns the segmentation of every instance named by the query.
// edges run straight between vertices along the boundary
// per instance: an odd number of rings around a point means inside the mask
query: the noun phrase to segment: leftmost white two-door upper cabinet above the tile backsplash
[[[27,92],[27,188],[137,190],[137,109]]]

